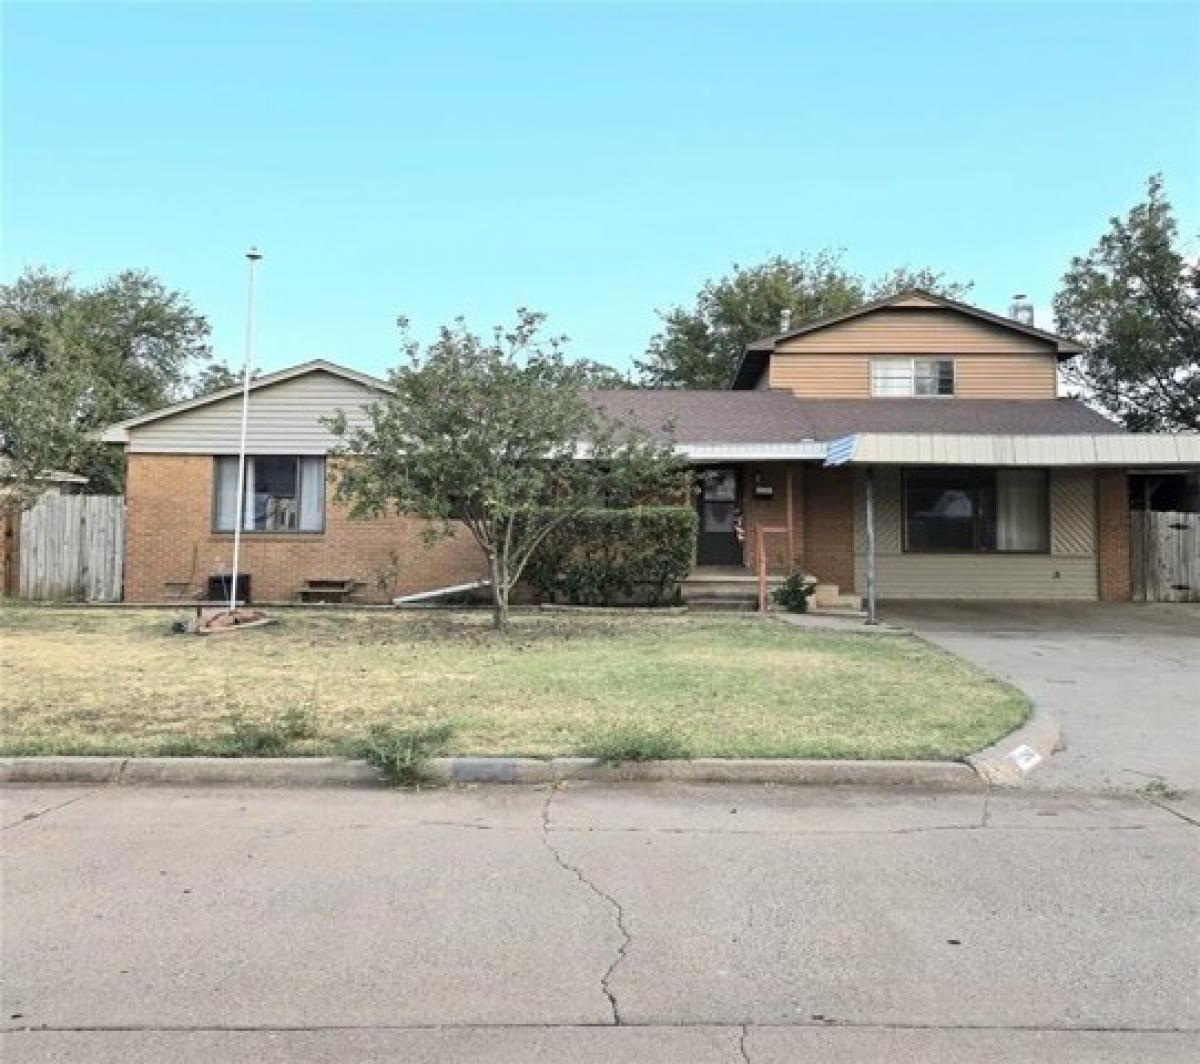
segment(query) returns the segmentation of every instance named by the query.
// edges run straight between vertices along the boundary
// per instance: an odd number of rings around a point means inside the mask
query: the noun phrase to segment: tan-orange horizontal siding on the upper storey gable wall
[[[955,395],[1046,399],[1058,391],[1054,345],[965,314],[887,309],[780,343],[770,386],[815,398],[868,398],[871,359],[953,357]]]

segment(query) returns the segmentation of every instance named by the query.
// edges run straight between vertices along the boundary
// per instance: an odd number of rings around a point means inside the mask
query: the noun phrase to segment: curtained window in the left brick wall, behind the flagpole
[[[214,475],[212,527],[233,531],[238,509],[238,458],[221,456]],[[242,531],[325,530],[325,459],[293,455],[246,456]]]

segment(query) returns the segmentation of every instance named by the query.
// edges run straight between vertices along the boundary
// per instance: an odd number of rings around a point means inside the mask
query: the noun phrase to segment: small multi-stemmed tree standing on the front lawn
[[[666,439],[613,421],[589,403],[589,371],[568,362],[542,315],[520,309],[490,338],[458,319],[422,351],[401,319],[404,365],[368,423],[331,419],[340,497],[350,512],[431,521],[433,542],[461,529],[487,559],[496,627],[539,543],[599,499],[625,504],[680,494],[686,473]],[[665,433],[665,437],[667,434]]]

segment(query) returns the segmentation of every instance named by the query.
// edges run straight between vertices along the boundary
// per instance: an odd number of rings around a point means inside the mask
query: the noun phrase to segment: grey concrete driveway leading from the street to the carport
[[[1031,786],[1200,791],[1200,605],[904,602],[881,617],[1062,721],[1066,749]]]

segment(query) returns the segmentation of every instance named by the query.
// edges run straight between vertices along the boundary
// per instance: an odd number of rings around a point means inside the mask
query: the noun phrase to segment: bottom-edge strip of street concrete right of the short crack
[[[1092,1030],[839,1030],[750,1028],[751,1064],[1190,1064],[1195,1034]]]

